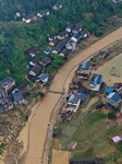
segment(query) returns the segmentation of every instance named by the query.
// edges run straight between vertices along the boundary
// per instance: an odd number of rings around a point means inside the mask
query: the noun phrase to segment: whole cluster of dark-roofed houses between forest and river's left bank
[[[27,48],[24,54],[29,58],[29,63],[26,66],[28,74],[30,77],[37,77],[37,81],[42,81],[42,83],[48,82],[49,74],[39,74],[45,68],[52,63],[53,56],[59,56],[64,59],[69,59],[72,50],[76,48],[76,44],[81,38],[88,36],[82,23],[75,25],[68,25],[65,30],[59,34],[49,36],[49,45],[42,50],[45,57],[39,57],[40,50],[38,46]],[[86,35],[85,35],[86,34]],[[78,37],[77,37],[78,35]],[[85,36],[84,36],[85,35]],[[69,48],[70,43],[74,43],[72,48]],[[71,45],[72,46],[72,45]],[[45,77],[45,79],[44,79]],[[45,81],[45,82],[44,82]]]

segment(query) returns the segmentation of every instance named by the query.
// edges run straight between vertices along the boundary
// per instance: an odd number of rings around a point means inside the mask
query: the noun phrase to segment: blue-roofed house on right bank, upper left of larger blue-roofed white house
[[[91,66],[89,61],[82,62],[76,70],[77,78],[81,79],[88,79],[90,73],[91,73]]]

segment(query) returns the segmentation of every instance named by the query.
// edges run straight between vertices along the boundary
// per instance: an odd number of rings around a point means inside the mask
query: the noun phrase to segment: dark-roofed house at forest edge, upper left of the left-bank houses
[[[24,51],[25,55],[27,55],[28,57],[30,58],[34,58],[36,57],[37,55],[39,55],[40,50],[39,50],[39,47],[38,46],[35,46],[35,47],[30,47],[28,49],[26,49]]]

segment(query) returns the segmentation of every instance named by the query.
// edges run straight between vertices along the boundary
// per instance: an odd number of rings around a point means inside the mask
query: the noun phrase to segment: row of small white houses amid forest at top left
[[[62,9],[61,3],[56,3],[52,5],[52,10],[54,11],[60,11],[61,9]],[[30,14],[30,15],[27,15],[24,11],[17,11],[14,16],[16,20],[22,20],[24,23],[28,24],[38,21],[38,19],[42,19],[49,15],[50,15],[50,10],[46,9],[46,10],[41,10],[36,14]]]

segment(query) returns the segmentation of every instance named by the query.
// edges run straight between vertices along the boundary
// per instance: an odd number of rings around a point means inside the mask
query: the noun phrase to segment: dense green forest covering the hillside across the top
[[[84,26],[96,36],[119,25],[122,16],[122,3],[112,0],[60,0],[63,8],[52,11],[58,0],[0,0],[0,78],[11,74],[17,82],[26,74],[28,62],[24,50],[28,46],[39,45],[42,50],[48,44],[48,36],[63,31],[68,23],[82,21]],[[49,9],[50,15],[37,23],[25,24],[16,21],[16,12],[26,15]],[[117,20],[108,25],[108,19]],[[40,54],[41,55],[41,54]]]

